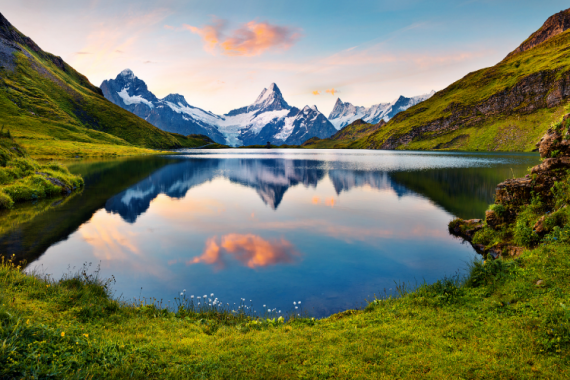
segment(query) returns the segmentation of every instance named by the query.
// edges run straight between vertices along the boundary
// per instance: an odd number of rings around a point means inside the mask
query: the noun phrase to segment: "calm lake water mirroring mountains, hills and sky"
[[[55,277],[100,263],[125,299],[186,289],[324,316],[464,270],[477,255],[447,223],[482,217],[495,186],[537,162],[334,150],[77,162],[84,191],[1,215],[0,249]]]

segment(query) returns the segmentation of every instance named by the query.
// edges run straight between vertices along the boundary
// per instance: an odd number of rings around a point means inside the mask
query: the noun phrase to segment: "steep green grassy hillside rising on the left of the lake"
[[[109,102],[1,14],[0,125],[36,157],[141,154],[211,142],[164,132]]]

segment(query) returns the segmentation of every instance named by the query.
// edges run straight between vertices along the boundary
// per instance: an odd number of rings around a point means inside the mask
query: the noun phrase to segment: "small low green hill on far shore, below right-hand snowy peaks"
[[[369,136],[385,124],[386,122],[384,120],[378,124],[370,124],[362,119],[358,119],[343,127],[329,138],[319,139],[318,137],[313,137],[305,141],[302,146],[309,149],[352,148],[355,141]]]

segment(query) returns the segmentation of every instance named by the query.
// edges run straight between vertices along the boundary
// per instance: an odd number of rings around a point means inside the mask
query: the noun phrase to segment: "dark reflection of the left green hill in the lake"
[[[171,163],[172,159],[141,157],[70,165],[74,174],[85,179],[85,190],[60,204],[52,199],[51,204],[44,202],[13,210],[10,218],[18,224],[2,226],[7,228],[0,235],[0,252],[15,253],[18,260],[32,262],[88,221],[110,197]]]

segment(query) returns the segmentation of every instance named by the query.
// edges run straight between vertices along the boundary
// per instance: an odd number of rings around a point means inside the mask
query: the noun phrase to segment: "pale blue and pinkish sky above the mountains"
[[[493,66],[561,0],[0,0],[42,49],[99,86],[131,69],[217,114],[271,83],[328,116],[442,90]]]

